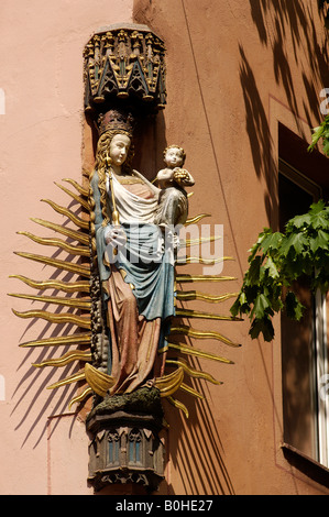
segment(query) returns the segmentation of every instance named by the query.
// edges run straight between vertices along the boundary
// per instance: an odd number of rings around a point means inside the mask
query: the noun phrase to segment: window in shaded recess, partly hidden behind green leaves
[[[322,195],[319,185],[279,160],[281,231]],[[284,442],[329,468],[329,298],[314,296],[308,278],[300,278],[294,289],[306,310],[300,321],[282,314]]]

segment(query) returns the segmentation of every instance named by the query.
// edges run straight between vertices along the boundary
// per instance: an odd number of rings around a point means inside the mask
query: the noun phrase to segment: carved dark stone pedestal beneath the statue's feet
[[[164,479],[160,408],[153,415],[141,410],[106,411],[107,402],[111,405],[114,402],[117,408],[120,398],[127,408],[128,397],[108,397],[88,416],[87,431],[91,435],[88,481],[96,491],[114,483],[136,483],[154,492]]]

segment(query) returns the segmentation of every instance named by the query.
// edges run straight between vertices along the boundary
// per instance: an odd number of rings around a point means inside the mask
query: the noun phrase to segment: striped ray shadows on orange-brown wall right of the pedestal
[[[190,361],[189,366],[201,370],[198,361]],[[168,403],[164,404],[165,411],[169,415],[167,440],[171,462],[179,474],[184,493],[234,495],[220,431],[213,419],[209,387],[202,381],[187,381],[186,384],[205,397],[204,400],[199,400],[178,392],[178,400],[189,411],[188,419],[179,409],[173,408]],[[219,391],[220,388],[216,387]],[[169,495],[182,495],[175,491],[172,483],[167,483],[167,490]]]

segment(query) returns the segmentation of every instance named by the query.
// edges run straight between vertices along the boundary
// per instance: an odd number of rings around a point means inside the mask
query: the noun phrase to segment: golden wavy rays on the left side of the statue
[[[63,207],[50,199],[42,199],[56,213],[67,218],[69,223],[75,226],[75,229],[69,228],[66,224],[57,224],[44,219],[31,218],[36,224],[52,230],[59,234],[57,237],[39,237],[31,232],[20,231],[21,235],[26,237],[31,241],[53,249],[55,252],[53,256],[35,254],[29,252],[15,252],[17,255],[41,263],[45,266],[51,266],[55,270],[55,275],[52,278],[46,279],[33,279],[24,275],[11,275],[12,278],[21,280],[32,289],[36,289],[37,294],[15,294],[10,293],[9,296],[19,299],[30,300],[32,302],[42,302],[46,309],[31,309],[25,311],[19,311],[12,309],[13,314],[20,318],[33,318],[45,320],[51,323],[58,331],[58,326],[67,324],[72,333],[57,336],[57,331],[53,332],[56,336],[50,338],[36,339],[33,341],[26,341],[21,343],[22,348],[32,349],[47,349],[53,350],[65,350],[62,355],[57,358],[45,359],[42,362],[33,363],[33,366],[43,369],[46,366],[61,369],[67,365],[77,364],[78,372],[70,374],[65,378],[61,378],[56,383],[47,386],[48,389],[58,388],[73,383],[84,382],[86,384],[85,364],[91,361],[90,350],[90,265],[89,265],[89,204],[88,204],[88,190],[79,185],[74,179],[63,179],[75,188],[75,191],[59,185],[59,187],[67,196],[69,196],[73,202],[78,204],[79,211],[83,210],[84,217],[77,216],[69,208]],[[65,238],[65,239],[63,239]],[[58,253],[67,253],[72,255],[66,260],[58,258]],[[64,275],[69,275],[69,280],[59,279],[58,273],[62,272]],[[53,294],[44,294],[53,289]],[[62,294],[61,294],[62,293]],[[65,296],[63,296],[63,294]],[[55,307],[55,310],[48,310],[48,307]],[[58,332],[59,333],[59,332]],[[68,350],[67,348],[75,348]],[[83,367],[81,367],[83,365]],[[69,407],[75,403],[83,403],[88,396],[92,394],[89,385],[85,386],[77,396],[69,402]]]

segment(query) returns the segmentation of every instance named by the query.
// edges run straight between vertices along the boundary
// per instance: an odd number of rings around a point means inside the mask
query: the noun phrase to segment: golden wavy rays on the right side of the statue
[[[201,213],[195,217],[189,218],[186,221],[186,227],[191,224],[199,224],[205,218],[210,217],[209,213]],[[189,274],[180,273],[180,266],[185,265],[189,267],[189,264],[201,264],[211,265],[223,264],[224,261],[231,261],[232,257],[215,255],[212,258],[207,258],[201,254],[187,255],[186,249],[193,249],[194,246],[202,245],[204,243],[213,243],[217,240],[221,239],[222,235],[207,235],[207,237],[197,237],[195,239],[183,239],[180,240],[180,246],[185,246],[185,256],[184,258],[178,258],[177,270],[176,270],[176,314],[175,318],[172,321],[169,334],[166,338],[167,341],[167,359],[166,367],[171,373],[164,375],[161,380],[156,380],[156,386],[160,388],[161,394],[166,398],[172,405],[177,409],[182,410],[186,418],[189,416],[188,408],[182,400],[177,398],[177,393],[184,392],[188,395],[204,399],[205,396],[195,387],[190,386],[190,383],[187,383],[187,378],[195,378],[200,381],[210,382],[212,384],[222,384],[221,381],[217,381],[209,373],[196,369],[195,365],[191,366],[188,362],[191,361],[194,364],[199,360],[209,360],[217,362],[218,364],[229,365],[233,364],[233,361],[226,356],[226,354],[220,355],[218,353],[208,352],[202,349],[202,345],[195,346],[195,341],[204,343],[205,340],[211,340],[215,343],[223,344],[228,348],[237,349],[240,346],[240,343],[235,343],[230,338],[224,336],[218,330],[213,330],[215,322],[224,322],[224,321],[241,321],[240,318],[232,318],[231,316],[224,314],[218,314],[216,310],[195,310],[190,307],[186,307],[186,304],[189,306],[189,302],[195,301],[199,306],[205,304],[205,306],[221,307],[222,304],[231,298],[237,297],[237,293],[207,293],[204,290],[204,286],[208,284],[215,284],[217,287],[221,286],[222,283],[235,280],[233,276],[223,276],[221,274]],[[202,250],[202,249],[201,249]],[[222,267],[219,268],[220,273]],[[190,289],[189,285],[197,285],[198,288]],[[178,287],[177,287],[178,286]],[[202,287],[199,287],[202,286]],[[218,290],[218,289],[217,289]],[[178,306],[179,305],[179,306]],[[186,324],[187,321],[187,324]],[[194,327],[193,321],[201,322],[201,330]],[[211,322],[212,327],[207,328]],[[187,342],[186,342],[187,341]]]

